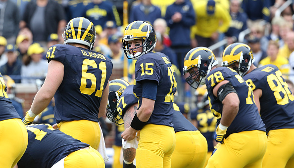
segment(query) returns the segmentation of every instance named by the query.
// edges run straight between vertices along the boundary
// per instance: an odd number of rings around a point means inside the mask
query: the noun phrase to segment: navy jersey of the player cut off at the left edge
[[[0,74],[0,121],[15,118],[21,119],[13,107],[10,98],[8,98],[6,91],[6,84],[4,83],[3,76]]]

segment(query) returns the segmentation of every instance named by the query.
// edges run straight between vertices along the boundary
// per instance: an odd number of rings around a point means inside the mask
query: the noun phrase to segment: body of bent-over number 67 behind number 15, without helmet
[[[112,118],[117,115],[119,116],[119,119],[120,117],[123,118],[125,128],[130,127],[130,124],[138,111],[138,98],[133,94],[133,87],[134,85],[129,85],[124,90],[123,94],[118,100],[117,107],[115,107],[115,109],[111,111]],[[109,87],[109,89],[111,90],[111,86]],[[172,122],[174,124],[174,130],[176,132],[176,147],[172,154],[171,167],[203,168],[207,155],[206,139],[196,129],[196,127],[193,126],[182,115],[175,104],[174,107],[176,111],[173,114]],[[116,119],[111,120],[115,121]],[[135,158],[135,152],[135,148],[123,148],[124,168],[132,167],[132,162]]]

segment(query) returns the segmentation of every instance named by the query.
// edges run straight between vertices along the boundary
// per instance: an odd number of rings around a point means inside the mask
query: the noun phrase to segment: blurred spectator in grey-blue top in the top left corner
[[[14,44],[20,21],[16,3],[11,0],[0,1],[0,36],[6,38],[7,43]]]

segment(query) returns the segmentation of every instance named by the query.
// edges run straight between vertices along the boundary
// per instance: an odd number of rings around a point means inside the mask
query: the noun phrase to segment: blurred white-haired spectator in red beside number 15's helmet
[[[160,33],[162,36],[163,36],[163,39],[162,39],[162,43],[167,46],[167,47],[170,47],[171,46],[171,40],[168,36],[168,34],[166,33],[167,32],[167,24],[166,24],[166,21],[162,18],[158,18],[154,21],[153,23],[153,27],[154,27],[154,30],[155,32],[157,33]]]

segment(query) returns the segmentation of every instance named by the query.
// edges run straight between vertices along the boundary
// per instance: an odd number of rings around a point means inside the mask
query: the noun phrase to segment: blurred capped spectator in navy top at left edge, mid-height
[[[15,76],[15,83],[20,83],[20,71],[22,62],[20,59],[17,59],[18,52],[15,46],[12,44],[8,44],[6,46],[5,53],[7,56],[7,62],[0,67],[0,73],[2,75]]]

